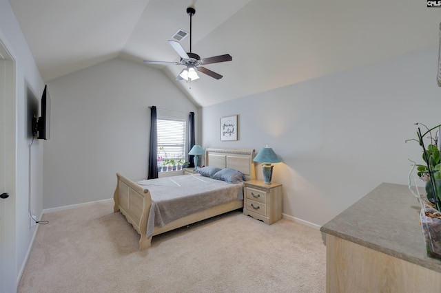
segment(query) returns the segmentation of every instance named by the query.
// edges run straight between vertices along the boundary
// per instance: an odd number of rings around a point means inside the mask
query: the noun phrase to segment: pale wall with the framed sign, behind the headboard
[[[271,146],[283,159],[273,175],[283,213],[322,226],[381,182],[407,184],[408,158],[422,163],[404,140],[415,122],[441,123],[437,62],[433,48],[204,107],[203,146]],[[220,142],[219,119],[233,114],[240,139]]]

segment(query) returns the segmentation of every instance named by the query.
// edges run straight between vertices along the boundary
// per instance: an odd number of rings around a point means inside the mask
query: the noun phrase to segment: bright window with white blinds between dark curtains
[[[160,119],[158,126],[158,164],[165,160],[185,161],[185,120]]]

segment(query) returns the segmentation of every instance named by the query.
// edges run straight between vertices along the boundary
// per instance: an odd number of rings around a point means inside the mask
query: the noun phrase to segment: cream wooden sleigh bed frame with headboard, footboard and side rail
[[[252,180],[256,179],[256,168],[253,162],[254,155],[254,149],[207,148],[205,152],[205,165],[218,167],[220,169],[234,169],[243,173],[246,180]],[[179,177],[181,176],[196,175],[180,175]],[[188,215],[183,215],[183,217],[167,222],[167,224],[162,226],[155,226],[154,219],[152,219],[153,217],[150,217],[150,213],[152,212],[152,194],[150,188],[137,184],[119,173],[116,173],[116,177],[117,184],[114,193],[114,213],[121,211],[125,216],[125,219],[127,219],[139,235],[141,235],[139,239],[140,250],[151,246],[152,237],[154,235],[187,226],[196,223],[197,221],[221,215],[232,210],[237,210],[238,208],[243,208],[243,199],[234,199],[227,203],[199,210],[195,213],[189,213]],[[173,178],[176,178],[176,181],[178,181],[178,177],[169,178],[172,180]],[[206,179],[206,177],[201,178],[203,180]],[[180,179],[183,180],[185,178]],[[197,180],[198,178],[194,179]],[[207,180],[212,179],[209,178]],[[154,181],[147,180],[146,182]],[[243,192],[243,184],[240,184],[240,188]],[[147,230],[152,231],[147,233]]]

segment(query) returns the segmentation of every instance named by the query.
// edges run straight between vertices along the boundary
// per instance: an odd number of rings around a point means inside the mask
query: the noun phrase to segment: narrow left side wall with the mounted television
[[[16,263],[15,276],[21,276],[23,265],[28,257],[30,243],[36,228],[30,228],[29,210],[39,216],[43,209],[43,142],[35,141],[32,146],[30,118],[39,113],[39,102],[43,92],[43,80],[35,65],[34,58],[23,37],[19,24],[8,1],[0,0],[0,40],[6,45],[16,61],[17,95],[17,188],[15,195],[7,200],[14,200],[15,221],[8,225],[15,226],[13,241]]]

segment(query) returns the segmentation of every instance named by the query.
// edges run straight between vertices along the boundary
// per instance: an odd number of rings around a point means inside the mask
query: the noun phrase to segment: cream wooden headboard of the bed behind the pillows
[[[254,149],[214,149],[205,151],[205,166],[230,168],[240,171],[247,180],[256,179],[256,164],[254,164]]]

